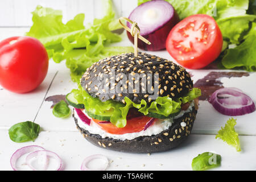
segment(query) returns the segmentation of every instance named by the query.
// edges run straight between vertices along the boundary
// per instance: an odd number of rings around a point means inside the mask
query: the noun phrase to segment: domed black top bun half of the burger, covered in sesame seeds
[[[115,74],[114,77],[112,76],[113,73]],[[150,97],[152,93],[148,93],[148,89],[143,90],[142,80],[134,80],[134,83],[139,81],[142,86],[139,93],[137,92],[138,90],[131,88],[129,82],[123,85],[123,74],[128,78],[129,75],[135,75],[136,73],[144,73],[147,77],[149,74],[158,75],[158,80],[154,80],[153,77],[151,79],[153,84],[158,84],[158,88],[154,88],[152,84],[152,89],[157,89],[160,97],[179,98],[193,88],[193,82],[185,68],[172,63],[172,61],[141,52],[138,53],[138,57],[135,57],[134,53],[125,53],[119,56],[107,57],[94,63],[82,76],[81,85],[90,96],[98,97],[103,102],[114,100],[125,103],[125,97],[130,98],[135,103],[140,103],[142,99],[147,103],[154,101],[154,98]],[[99,78],[106,76],[109,76],[109,82],[108,80],[98,81]],[[110,85],[111,78],[112,80],[114,78],[114,86],[120,85],[122,82],[123,86],[118,93]],[[104,88],[106,84],[109,84],[109,92],[106,92],[105,89],[100,89]],[[135,92],[127,92],[129,89]]]

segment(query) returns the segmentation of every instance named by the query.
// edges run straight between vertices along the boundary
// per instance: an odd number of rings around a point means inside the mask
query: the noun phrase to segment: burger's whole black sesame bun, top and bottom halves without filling
[[[114,100],[125,104],[125,97],[128,97],[135,103],[140,103],[143,99],[147,104],[150,104],[156,98],[151,97],[152,92],[149,92],[148,89],[143,89],[146,86],[143,85],[142,79],[133,80],[134,83],[137,82],[141,86],[139,92],[137,92],[138,90],[127,92],[129,89],[133,90],[133,84],[129,83],[130,79],[129,81],[125,80],[126,85],[123,84],[124,77],[133,76],[137,73],[144,73],[147,75],[146,79],[149,78],[148,75],[150,74],[158,75],[157,79],[155,77],[151,78],[152,83],[158,84],[157,88],[152,88],[151,91],[157,89],[157,94],[160,97],[168,96],[175,100],[185,96],[185,94],[193,89],[191,77],[183,67],[172,63],[172,61],[141,52],[138,53],[138,57],[135,57],[134,53],[125,53],[107,57],[94,63],[82,76],[81,86],[90,96],[97,97],[102,102]],[[104,78],[104,81],[99,81],[101,78]],[[117,91],[115,86],[118,85],[122,86]],[[105,90],[104,86],[108,86],[110,90]],[[79,129],[84,138],[96,146],[115,151],[141,153],[167,151],[177,147],[189,136],[196,114],[197,105],[195,104],[191,110],[185,112],[181,117],[174,119],[174,122],[167,130],[156,135],[140,136],[130,140],[102,138],[101,135],[92,134],[79,126],[75,114],[73,114],[73,118],[75,119],[77,129]]]

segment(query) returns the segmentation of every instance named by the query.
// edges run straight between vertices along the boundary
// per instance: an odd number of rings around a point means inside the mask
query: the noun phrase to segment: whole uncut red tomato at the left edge
[[[0,42],[0,84],[15,93],[37,88],[48,72],[49,59],[43,44],[29,36]]]

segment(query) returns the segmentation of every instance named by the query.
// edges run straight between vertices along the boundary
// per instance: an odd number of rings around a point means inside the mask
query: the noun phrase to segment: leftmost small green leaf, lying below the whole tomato
[[[38,137],[40,126],[34,122],[26,121],[16,123],[9,129],[9,137],[14,142],[35,141]]]

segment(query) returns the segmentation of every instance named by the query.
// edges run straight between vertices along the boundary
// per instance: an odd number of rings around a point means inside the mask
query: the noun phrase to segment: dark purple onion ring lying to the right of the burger
[[[253,100],[237,88],[218,89],[210,96],[209,102],[225,115],[244,115],[255,111]]]

